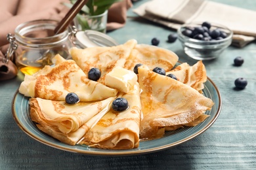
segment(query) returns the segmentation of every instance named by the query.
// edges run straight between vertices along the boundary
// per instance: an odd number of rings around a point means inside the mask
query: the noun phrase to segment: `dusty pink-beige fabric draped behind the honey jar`
[[[7,33],[14,34],[17,25],[30,20],[52,19],[61,20],[68,8],[61,5],[68,0],[0,0],[0,81],[14,78],[18,73],[14,58],[8,64],[2,62],[9,42]]]

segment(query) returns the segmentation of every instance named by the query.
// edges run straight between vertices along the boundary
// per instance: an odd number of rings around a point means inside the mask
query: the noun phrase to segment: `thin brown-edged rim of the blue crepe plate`
[[[16,97],[18,96],[18,89],[16,90],[16,92],[14,93],[14,97],[12,98],[12,117],[14,118],[16,124],[18,125],[18,127],[20,127],[20,129],[22,129],[22,131],[24,131],[27,135],[29,135],[30,137],[32,137],[32,139],[35,139],[35,141],[39,141],[40,143],[46,144],[47,146],[51,146],[53,148],[57,148],[59,150],[64,150],[64,151],[68,151],[68,152],[75,152],[75,153],[79,153],[79,154],[87,154],[87,155],[95,155],[95,156],[131,156],[131,155],[138,155],[138,154],[148,154],[148,153],[152,153],[152,152],[159,152],[161,150],[165,150],[167,148],[172,148],[174,146],[178,146],[179,144],[185,143],[187,141],[190,141],[191,139],[194,139],[195,137],[197,137],[198,135],[201,135],[203,132],[205,132],[207,129],[209,129],[209,127],[211,127],[214,122],[217,120],[217,118],[219,117],[219,114],[221,113],[221,108],[222,108],[222,97],[221,97],[221,93],[219,92],[219,89],[217,88],[216,84],[211,80],[211,78],[209,78],[207,76],[207,81],[209,81],[211,83],[211,85],[213,86],[213,88],[215,89],[218,99],[219,99],[219,107],[217,108],[216,114],[213,117],[213,119],[211,120],[211,122],[209,122],[208,124],[206,124],[203,129],[201,129],[200,131],[197,131],[196,133],[189,135],[188,137],[177,141],[175,143],[169,143],[169,144],[165,144],[162,146],[157,146],[154,148],[146,148],[144,150],[108,150],[108,152],[106,152],[105,149],[102,149],[102,151],[90,151],[90,150],[80,150],[78,148],[66,148],[64,146],[60,146],[58,144],[54,144],[51,142],[47,142],[47,141],[43,141],[41,139],[39,139],[39,137],[37,137],[36,135],[34,135],[31,131],[28,131],[24,125],[21,124],[21,122],[18,120],[18,118],[16,118],[16,110],[14,109],[15,107],[15,101],[16,101]],[[39,129],[38,129],[39,130]],[[39,130],[39,132],[43,133],[42,131]],[[117,152],[119,151],[119,152]]]

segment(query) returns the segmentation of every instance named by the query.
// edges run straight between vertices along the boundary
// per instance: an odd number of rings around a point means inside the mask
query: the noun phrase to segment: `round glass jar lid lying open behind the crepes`
[[[93,47],[93,46],[117,46],[118,43],[110,36],[93,30],[78,31],[75,34],[77,41],[79,41],[83,46]]]

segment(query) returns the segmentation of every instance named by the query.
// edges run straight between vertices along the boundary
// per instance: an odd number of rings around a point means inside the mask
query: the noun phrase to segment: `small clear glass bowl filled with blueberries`
[[[182,25],[177,34],[190,58],[206,60],[220,56],[231,44],[233,32],[224,25],[194,22]]]

